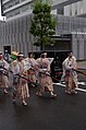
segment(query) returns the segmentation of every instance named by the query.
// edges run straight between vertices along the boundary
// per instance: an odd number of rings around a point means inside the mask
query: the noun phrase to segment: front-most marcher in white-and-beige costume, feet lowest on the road
[[[11,70],[13,72],[14,86],[13,103],[15,103],[16,98],[22,98],[22,104],[27,105],[26,99],[29,97],[29,94],[27,81],[24,79],[27,76],[27,70],[25,69],[25,61],[22,54],[19,54],[17,59],[11,63]]]

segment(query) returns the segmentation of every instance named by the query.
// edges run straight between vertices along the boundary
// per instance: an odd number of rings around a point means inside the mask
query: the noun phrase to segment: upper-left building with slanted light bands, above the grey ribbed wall
[[[32,12],[32,0],[1,0],[2,15],[7,20]]]

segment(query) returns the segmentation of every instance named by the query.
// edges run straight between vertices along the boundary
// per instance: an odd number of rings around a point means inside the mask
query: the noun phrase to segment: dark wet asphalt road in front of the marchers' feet
[[[79,85],[81,87],[81,85]],[[86,93],[67,95],[54,85],[58,97],[36,96],[32,88],[28,106],[12,104],[11,92],[0,92],[0,130],[86,130]]]

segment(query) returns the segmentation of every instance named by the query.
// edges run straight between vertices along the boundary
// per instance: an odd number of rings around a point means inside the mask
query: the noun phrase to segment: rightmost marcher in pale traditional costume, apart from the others
[[[77,92],[75,91],[75,88],[78,87],[77,73],[75,71],[77,70],[77,62],[72,51],[69,54],[69,57],[63,61],[62,67],[63,67],[62,79],[64,79],[66,85],[65,93],[77,94]]]

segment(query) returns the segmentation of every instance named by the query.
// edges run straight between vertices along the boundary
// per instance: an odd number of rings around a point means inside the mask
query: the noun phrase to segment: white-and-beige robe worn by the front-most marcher
[[[26,64],[24,60],[21,62],[17,60],[14,60],[11,64],[11,70],[13,72],[14,96],[21,97],[22,99],[29,97],[27,81],[17,76],[16,74],[20,74],[26,78],[27,70],[25,69],[26,69]]]

